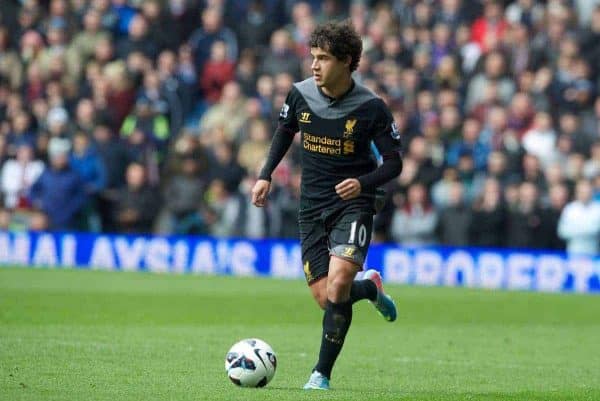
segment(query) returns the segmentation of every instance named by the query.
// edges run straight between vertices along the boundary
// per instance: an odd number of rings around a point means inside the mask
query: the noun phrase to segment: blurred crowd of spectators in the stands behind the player
[[[0,229],[297,237],[298,143],[249,191],[346,18],[403,134],[377,241],[598,252],[595,0],[2,0]]]

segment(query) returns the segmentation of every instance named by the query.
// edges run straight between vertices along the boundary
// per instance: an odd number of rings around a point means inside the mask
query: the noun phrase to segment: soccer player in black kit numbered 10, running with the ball
[[[271,174],[300,132],[302,263],[324,310],[319,359],[304,388],[327,390],[352,321],[352,304],[368,299],[386,320],[396,319],[379,273],[368,270],[362,280],[355,277],[371,240],[376,189],[400,174],[402,161],[400,134],[389,109],[352,79],[362,52],[352,25],[320,25],[309,45],[313,76],[294,84],[286,98],[252,203],[265,205]],[[383,158],[379,166],[371,144]]]

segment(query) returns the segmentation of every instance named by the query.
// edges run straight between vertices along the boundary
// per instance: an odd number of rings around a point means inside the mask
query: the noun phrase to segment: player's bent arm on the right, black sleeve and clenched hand
[[[381,154],[383,162],[370,173],[357,178],[345,179],[336,185],[336,193],[344,200],[355,198],[362,192],[373,192],[377,187],[394,179],[402,172],[400,132],[383,101],[378,102],[377,109],[373,143]]]

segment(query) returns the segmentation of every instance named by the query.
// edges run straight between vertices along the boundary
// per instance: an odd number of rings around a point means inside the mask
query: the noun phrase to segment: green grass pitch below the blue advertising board
[[[357,304],[315,393],[302,281],[0,268],[0,400],[600,400],[600,297],[388,289],[398,321]],[[278,355],[264,389],[224,372],[245,337]]]

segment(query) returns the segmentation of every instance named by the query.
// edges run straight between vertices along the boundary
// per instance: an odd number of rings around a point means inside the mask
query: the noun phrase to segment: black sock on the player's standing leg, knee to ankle
[[[327,301],[323,315],[323,335],[321,337],[321,350],[319,362],[315,370],[327,378],[331,377],[333,364],[344,345],[346,333],[352,322],[352,301],[341,303]]]

